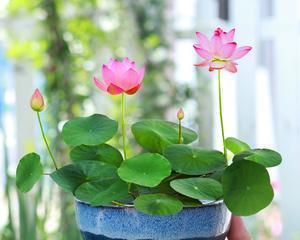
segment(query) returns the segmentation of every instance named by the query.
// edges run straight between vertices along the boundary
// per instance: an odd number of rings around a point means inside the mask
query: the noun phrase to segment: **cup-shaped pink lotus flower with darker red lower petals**
[[[138,70],[135,62],[125,58],[122,62],[110,59],[102,66],[104,83],[94,77],[95,85],[112,95],[120,93],[134,94],[142,85],[145,67]]]

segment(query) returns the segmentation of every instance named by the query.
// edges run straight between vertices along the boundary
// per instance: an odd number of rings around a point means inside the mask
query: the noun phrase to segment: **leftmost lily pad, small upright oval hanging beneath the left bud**
[[[21,158],[16,172],[16,185],[21,192],[28,192],[43,175],[40,156],[29,153]]]

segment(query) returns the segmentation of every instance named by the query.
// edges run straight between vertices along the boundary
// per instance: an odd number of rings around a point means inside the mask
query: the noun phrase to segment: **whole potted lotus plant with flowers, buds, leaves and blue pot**
[[[101,90],[121,95],[123,154],[107,143],[118,131],[116,121],[101,114],[78,117],[63,126],[61,136],[71,148],[72,164],[60,167],[40,119],[43,97],[38,90],[32,96],[31,107],[55,167],[50,177],[74,195],[84,239],[225,239],[231,213],[255,214],[272,201],[266,168],[280,164],[280,154],[225,138],[223,127],[221,71],[235,73],[234,61],[251,47],[236,47],[234,29],[218,28],[210,40],[200,32],[196,36],[194,48],[204,61],[195,65],[218,72],[222,152],[192,144],[197,133],[182,126],[180,109],[177,122],[134,123],[131,132],[142,151],[128,156],[125,96],[139,90],[144,76],[144,68],[137,69],[128,58],[103,65],[104,82],[94,78]],[[25,155],[17,167],[18,189],[29,191],[43,175],[40,156]]]

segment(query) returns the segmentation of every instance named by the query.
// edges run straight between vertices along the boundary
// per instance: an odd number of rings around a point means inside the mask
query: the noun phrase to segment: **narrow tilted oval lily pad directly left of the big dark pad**
[[[176,179],[171,187],[182,195],[198,200],[217,200],[222,197],[222,185],[210,178]]]

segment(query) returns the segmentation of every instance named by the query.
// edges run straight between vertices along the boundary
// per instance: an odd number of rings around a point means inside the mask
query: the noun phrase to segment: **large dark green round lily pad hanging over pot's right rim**
[[[255,214],[274,196],[268,171],[252,161],[236,161],[226,168],[222,184],[226,206],[235,215]]]

